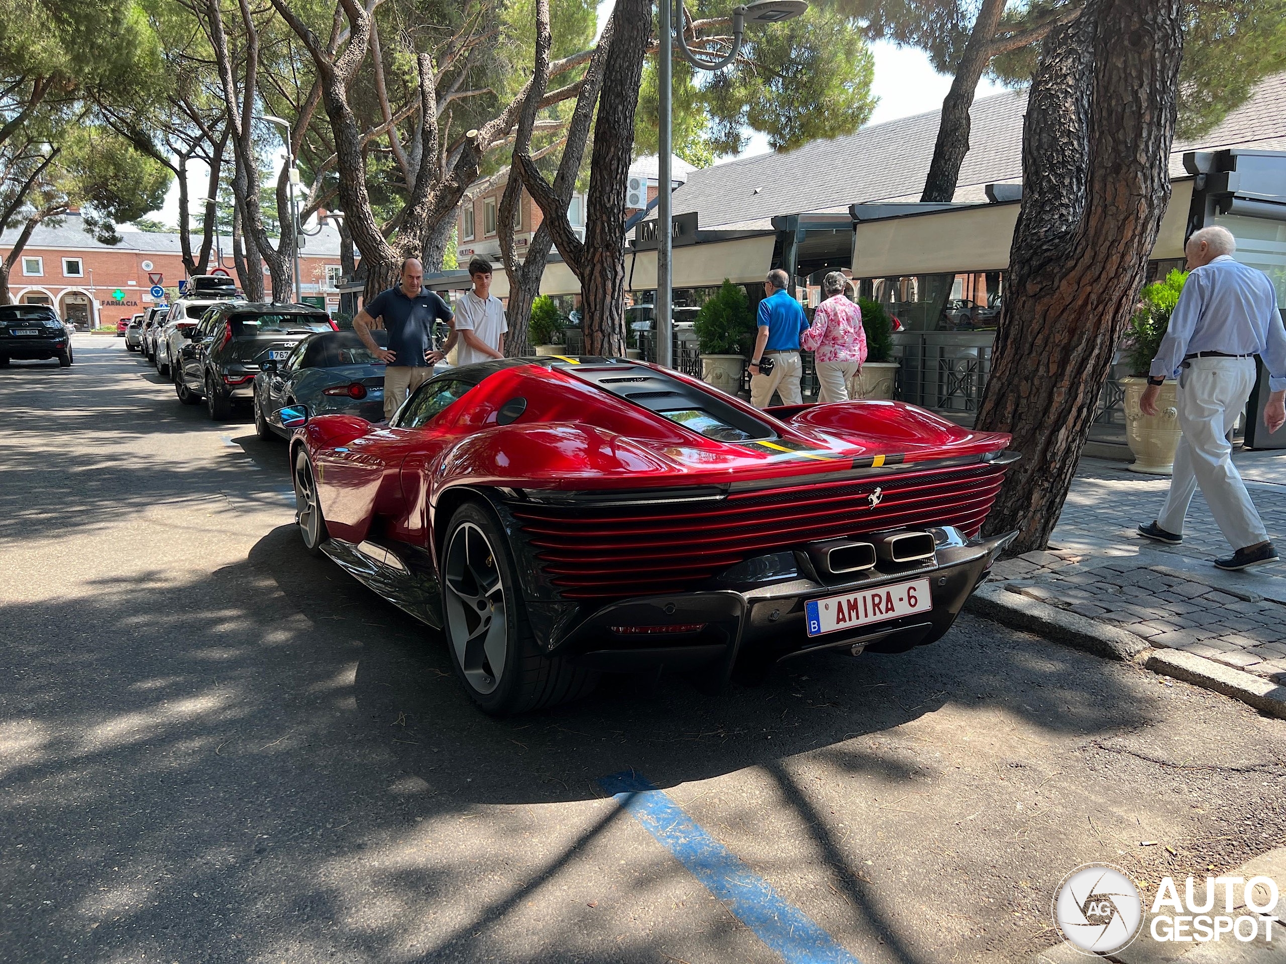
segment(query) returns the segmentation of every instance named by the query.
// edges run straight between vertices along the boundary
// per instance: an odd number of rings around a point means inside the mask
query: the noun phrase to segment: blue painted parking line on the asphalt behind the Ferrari
[[[598,784],[786,964],[860,964],[701,829],[665,790],[633,770],[604,776]]]

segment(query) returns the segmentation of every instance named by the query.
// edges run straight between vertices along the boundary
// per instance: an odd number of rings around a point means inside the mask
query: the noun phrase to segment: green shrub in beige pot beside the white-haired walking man
[[[1179,443],[1179,413],[1175,404],[1174,379],[1161,386],[1156,415],[1145,415],[1138,406],[1147,388],[1147,370],[1170,325],[1170,312],[1179,301],[1179,292],[1188,275],[1170,271],[1164,279],[1145,285],[1141,305],[1129,320],[1123,344],[1130,374],[1121,379],[1125,389],[1125,441],[1134,454],[1132,472],[1169,476],[1174,470],[1174,450]]]

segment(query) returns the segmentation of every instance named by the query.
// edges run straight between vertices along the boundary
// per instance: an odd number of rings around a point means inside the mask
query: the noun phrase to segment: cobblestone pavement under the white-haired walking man
[[[1236,463],[1268,527],[1286,551],[1286,454],[1240,452]],[[1112,623],[1152,647],[1183,649],[1286,684],[1286,564],[1245,573],[1215,569],[1224,541],[1200,492],[1179,546],[1141,539],[1168,477],[1085,459],[1049,551],[995,566],[1007,589]]]

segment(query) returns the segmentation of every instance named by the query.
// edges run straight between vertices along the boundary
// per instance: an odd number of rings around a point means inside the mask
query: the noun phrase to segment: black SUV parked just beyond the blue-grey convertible
[[[222,302],[174,352],[175,392],[185,405],[204,398],[210,418],[225,419],[234,401],[253,400],[261,364],[285,361],[310,334],[334,330],[331,316],[310,305]]]

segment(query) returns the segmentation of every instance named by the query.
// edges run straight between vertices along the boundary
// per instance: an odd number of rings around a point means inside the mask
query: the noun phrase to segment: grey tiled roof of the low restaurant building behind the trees
[[[957,202],[984,201],[983,188],[1022,176],[1025,93],[981,98],[970,111],[971,149],[961,166]],[[849,204],[919,201],[937,140],[939,111],[814,140],[786,154],[761,154],[693,171],[674,193],[674,212],[697,212],[702,228],[766,226],[774,215],[845,211]],[[1196,140],[1175,141],[1172,176],[1186,150],[1229,147],[1286,149],[1286,73]]]

